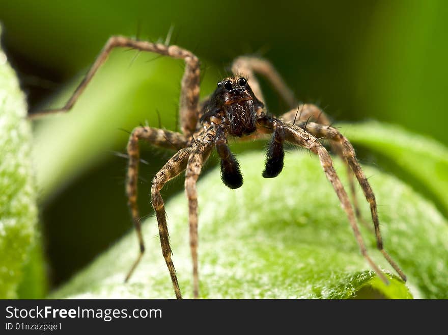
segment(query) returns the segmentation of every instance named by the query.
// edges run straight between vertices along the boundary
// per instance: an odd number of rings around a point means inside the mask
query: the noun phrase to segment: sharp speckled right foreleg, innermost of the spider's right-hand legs
[[[259,124],[269,131],[274,131],[274,123],[281,123],[280,120],[270,118],[267,116],[261,117],[258,120]],[[338,177],[338,174],[334,170],[333,163],[331,160],[331,156],[325,147],[319,143],[316,137],[312,134],[305,132],[302,128],[295,126],[293,124],[283,124],[283,129],[285,132],[285,140],[291,142],[293,144],[299,145],[306,149],[309,149],[311,152],[317,154],[319,157],[321,166],[325,172],[325,175],[328,181],[333,186],[334,191],[338,195],[339,200],[341,201],[342,207],[347,214],[350,226],[352,227],[356,242],[358,243],[361,254],[367,262],[370,264],[372,269],[376,272],[376,274],[387,284],[388,280],[384,273],[379,269],[379,267],[373,262],[369,254],[367,253],[367,248],[362,240],[361,233],[356,224],[355,215],[353,213],[353,209],[349,200],[347,193],[344,190],[344,187],[341,183],[341,180]]]

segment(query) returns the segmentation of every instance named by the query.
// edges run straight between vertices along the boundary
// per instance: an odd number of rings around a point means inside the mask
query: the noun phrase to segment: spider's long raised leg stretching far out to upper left
[[[181,127],[184,134],[194,132],[196,123],[198,121],[198,100],[199,100],[199,82],[200,69],[198,57],[194,56],[190,51],[185,50],[176,45],[165,45],[160,43],[151,43],[147,41],[134,40],[124,36],[111,36],[100,54],[96,58],[93,65],[90,67],[84,79],[73,92],[70,99],[64,107],[60,109],[44,110],[33,113],[29,116],[34,119],[43,115],[68,112],[72,109],[76,100],[81,93],[86,89],[87,85],[92,80],[93,76],[105,62],[110,52],[116,47],[127,47],[139,51],[148,51],[163,56],[170,56],[177,59],[185,60],[185,72],[182,78],[181,95],[180,95],[180,119]]]

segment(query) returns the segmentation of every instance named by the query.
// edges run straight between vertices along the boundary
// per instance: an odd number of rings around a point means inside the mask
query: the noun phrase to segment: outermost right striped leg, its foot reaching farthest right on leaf
[[[298,126],[301,128],[304,128],[305,123],[302,122],[302,123],[298,124]],[[322,124],[319,124],[319,123],[308,122],[306,124],[306,132],[310,132],[311,134],[313,134],[316,137],[325,137],[331,141],[340,143],[340,147],[342,148],[343,157],[349,164],[353,173],[355,174],[356,179],[358,180],[358,183],[361,186],[362,191],[364,192],[364,195],[370,204],[372,220],[373,220],[373,224],[375,226],[375,236],[376,236],[377,247],[383,254],[384,258],[395,269],[395,271],[397,271],[397,273],[400,275],[400,277],[404,281],[406,281],[406,276],[404,275],[403,271],[398,267],[398,265],[394,262],[394,260],[391,259],[390,255],[383,249],[383,240],[382,240],[381,232],[380,232],[380,225],[379,225],[379,220],[378,220],[378,211],[377,211],[375,195],[372,191],[372,188],[370,187],[369,182],[367,181],[366,175],[362,171],[361,166],[359,165],[359,163],[356,159],[355,150],[353,149],[353,146],[351,145],[351,143],[337,129],[330,127],[330,126],[323,126]]]

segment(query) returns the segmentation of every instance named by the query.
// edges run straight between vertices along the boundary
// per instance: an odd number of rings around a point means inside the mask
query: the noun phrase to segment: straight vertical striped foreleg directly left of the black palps
[[[193,297],[199,298],[198,274],[198,193],[196,182],[202,166],[207,161],[212,149],[212,143],[199,143],[192,150],[185,171],[185,194],[188,199],[188,223],[190,227],[190,250],[193,261]]]

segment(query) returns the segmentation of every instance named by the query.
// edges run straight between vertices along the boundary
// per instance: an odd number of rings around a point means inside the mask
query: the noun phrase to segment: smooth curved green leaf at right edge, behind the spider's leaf
[[[386,161],[406,183],[428,195],[448,217],[448,148],[437,141],[410,133],[397,125],[375,121],[341,124],[355,146],[363,146]]]

